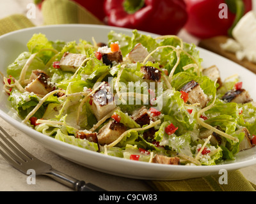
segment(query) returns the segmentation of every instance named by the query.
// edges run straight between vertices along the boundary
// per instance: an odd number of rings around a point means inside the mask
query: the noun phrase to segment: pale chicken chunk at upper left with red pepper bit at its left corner
[[[62,71],[76,72],[84,59],[86,59],[86,55],[65,52],[60,60],[60,68]]]

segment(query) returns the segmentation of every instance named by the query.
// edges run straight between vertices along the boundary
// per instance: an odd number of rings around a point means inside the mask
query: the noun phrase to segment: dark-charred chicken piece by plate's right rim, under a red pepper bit
[[[232,89],[228,91],[222,98],[225,102],[234,102],[234,103],[248,103],[252,101],[250,94],[245,89],[235,90]]]

